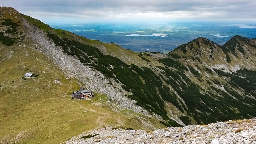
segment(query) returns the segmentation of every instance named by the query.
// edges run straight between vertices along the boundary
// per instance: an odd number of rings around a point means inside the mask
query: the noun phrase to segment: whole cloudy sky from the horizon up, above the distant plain
[[[43,22],[256,21],[256,0],[0,0]]]

